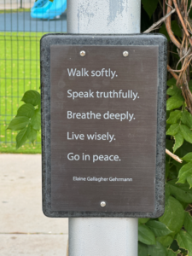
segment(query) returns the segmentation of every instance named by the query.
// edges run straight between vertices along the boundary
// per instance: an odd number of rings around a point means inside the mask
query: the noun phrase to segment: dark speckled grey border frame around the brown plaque
[[[51,210],[50,169],[50,45],[154,45],[159,46],[157,140],[154,212],[61,212]],[[41,41],[43,194],[44,213],[49,217],[137,217],[157,218],[164,212],[166,134],[166,38],[161,35],[49,35]]]

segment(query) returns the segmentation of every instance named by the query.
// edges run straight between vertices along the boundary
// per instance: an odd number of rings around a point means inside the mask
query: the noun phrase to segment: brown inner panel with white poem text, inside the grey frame
[[[154,212],[158,46],[51,45],[50,60],[51,209]]]

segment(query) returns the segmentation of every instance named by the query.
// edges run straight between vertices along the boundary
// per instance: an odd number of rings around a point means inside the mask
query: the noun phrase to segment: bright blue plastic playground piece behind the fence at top
[[[60,16],[67,9],[67,0],[48,1],[41,8],[31,10],[32,18],[52,20],[56,16]]]

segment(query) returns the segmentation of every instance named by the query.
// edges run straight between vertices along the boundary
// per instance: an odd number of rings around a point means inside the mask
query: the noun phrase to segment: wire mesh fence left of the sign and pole
[[[34,2],[0,0],[0,152],[40,153],[41,150],[40,134],[34,145],[26,143],[16,151],[17,131],[6,130],[22,105],[20,100],[25,91],[40,91],[40,38],[49,32],[67,32],[63,9],[51,20],[32,18]]]

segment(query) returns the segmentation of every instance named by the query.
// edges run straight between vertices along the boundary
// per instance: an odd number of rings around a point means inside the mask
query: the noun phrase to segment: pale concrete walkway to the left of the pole
[[[0,255],[65,256],[67,218],[42,212],[41,155],[0,154]]]

